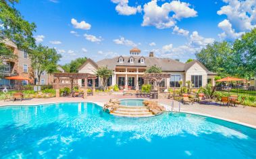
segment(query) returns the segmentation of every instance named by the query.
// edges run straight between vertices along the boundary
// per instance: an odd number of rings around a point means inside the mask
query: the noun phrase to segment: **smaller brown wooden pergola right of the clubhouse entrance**
[[[143,79],[147,79],[151,82],[157,82],[157,94],[159,94],[161,81],[165,78],[170,77],[170,75],[170,73],[146,73],[143,76]]]

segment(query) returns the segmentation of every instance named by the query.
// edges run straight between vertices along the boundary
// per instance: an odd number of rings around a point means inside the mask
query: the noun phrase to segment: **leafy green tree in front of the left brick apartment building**
[[[54,73],[57,71],[57,62],[61,58],[55,49],[49,49],[48,46],[39,44],[36,48],[29,53],[31,59],[31,66],[38,76],[40,82],[43,71],[47,73]]]

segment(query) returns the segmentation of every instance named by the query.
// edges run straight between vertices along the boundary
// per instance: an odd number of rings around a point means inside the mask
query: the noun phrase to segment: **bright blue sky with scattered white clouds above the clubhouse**
[[[62,55],[61,65],[129,56],[133,47],[185,62],[256,27],[255,0],[20,0],[16,8],[36,24],[36,43]]]

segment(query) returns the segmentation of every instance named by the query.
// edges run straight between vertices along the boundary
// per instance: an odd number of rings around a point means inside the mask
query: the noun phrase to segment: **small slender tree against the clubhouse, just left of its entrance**
[[[107,79],[113,75],[113,70],[108,69],[107,66],[99,67],[96,71],[96,75],[100,78],[101,85],[105,90],[107,86]]]

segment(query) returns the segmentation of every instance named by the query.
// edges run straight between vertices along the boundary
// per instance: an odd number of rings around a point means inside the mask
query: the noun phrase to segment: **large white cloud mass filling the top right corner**
[[[255,0],[223,0],[224,5],[217,11],[218,15],[226,15],[226,20],[218,24],[224,32],[221,38],[234,39],[243,32],[248,32],[256,27],[256,1]]]

